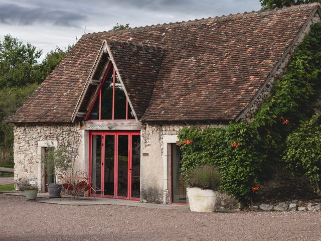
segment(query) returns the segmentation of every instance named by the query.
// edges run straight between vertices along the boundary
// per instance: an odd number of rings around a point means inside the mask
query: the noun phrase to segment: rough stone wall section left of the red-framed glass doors
[[[35,180],[44,191],[44,170],[41,160],[47,146],[64,145],[71,136],[78,133],[81,137],[80,125],[48,124],[17,125],[14,128],[14,162],[16,189],[26,180]],[[81,146],[78,152],[81,153]],[[75,161],[75,169],[84,170],[81,155]]]

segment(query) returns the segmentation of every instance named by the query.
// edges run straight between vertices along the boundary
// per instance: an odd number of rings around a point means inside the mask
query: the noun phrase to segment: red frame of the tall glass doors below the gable
[[[132,143],[132,136],[140,136],[139,131],[92,131],[89,134],[89,177],[90,180],[92,180],[92,136],[93,135],[100,135],[101,136],[101,160],[105,159],[105,136],[111,136],[113,135],[115,137],[115,146],[114,146],[114,195],[104,195],[104,180],[105,180],[105,173],[101,171],[101,180],[100,180],[100,188],[101,188],[101,194],[92,194],[91,190],[89,190],[88,195],[89,196],[95,196],[95,197],[106,197],[106,198],[117,198],[117,199],[126,199],[126,200],[136,200],[139,201],[140,198],[137,197],[131,197],[131,143]],[[127,197],[118,196],[118,136],[119,135],[128,135],[128,173],[127,173]],[[105,164],[103,164],[105,165]],[[102,165],[102,167],[103,167]],[[116,195],[115,195],[116,194]]]

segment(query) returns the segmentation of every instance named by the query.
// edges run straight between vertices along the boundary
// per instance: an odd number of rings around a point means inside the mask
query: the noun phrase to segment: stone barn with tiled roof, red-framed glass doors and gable
[[[79,137],[89,195],[186,203],[177,133],[247,121],[320,4],[83,35],[9,119],[16,187],[51,181],[43,154]]]

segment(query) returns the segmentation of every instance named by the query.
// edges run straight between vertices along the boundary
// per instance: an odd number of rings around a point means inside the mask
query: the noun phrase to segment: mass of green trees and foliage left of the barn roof
[[[10,35],[0,42],[0,162],[13,160],[13,125],[6,119],[15,113],[46,79],[73,45],[57,47],[39,63],[42,50]]]

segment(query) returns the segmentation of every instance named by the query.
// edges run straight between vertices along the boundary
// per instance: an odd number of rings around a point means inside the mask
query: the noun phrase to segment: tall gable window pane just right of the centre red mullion
[[[116,75],[115,78],[115,119],[126,119],[126,95],[121,87],[119,79]]]

